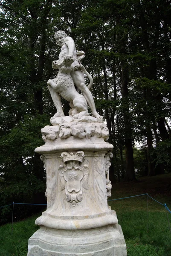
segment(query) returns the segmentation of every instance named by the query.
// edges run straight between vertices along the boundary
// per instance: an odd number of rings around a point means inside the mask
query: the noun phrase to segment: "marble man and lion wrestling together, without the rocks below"
[[[82,116],[88,116],[87,103],[92,111],[94,117],[102,119],[95,107],[93,96],[90,88],[93,85],[93,79],[90,74],[81,65],[80,60],[84,58],[84,52],[76,52],[75,43],[73,39],[64,31],[59,30],[55,32],[55,39],[57,44],[61,47],[58,61],[52,62],[52,68],[58,69],[58,75],[55,79],[47,82],[52,100],[57,109],[57,113],[52,119],[64,116],[61,105],[61,97],[70,102],[70,107],[73,111],[73,117],[80,119]],[[90,84],[87,87],[84,79],[84,72],[90,79]],[[79,94],[75,86],[81,90],[83,96]],[[72,114],[72,111],[70,112]]]

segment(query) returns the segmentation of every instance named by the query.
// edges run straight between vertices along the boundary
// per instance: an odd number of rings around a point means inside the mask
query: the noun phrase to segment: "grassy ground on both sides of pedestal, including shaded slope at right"
[[[117,183],[113,186],[112,198],[123,198],[148,192],[171,209],[171,174],[143,177],[137,183]],[[146,195],[109,201],[116,210],[119,224],[125,236],[128,256],[171,256],[171,213]],[[16,205],[14,207],[17,207]],[[34,224],[40,216],[0,227],[0,256],[26,256],[27,242],[38,229]]]

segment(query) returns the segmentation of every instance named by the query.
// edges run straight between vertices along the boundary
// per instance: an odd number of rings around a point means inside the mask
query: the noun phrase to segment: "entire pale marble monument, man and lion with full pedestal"
[[[93,79],[72,38],[58,31],[55,39],[61,53],[52,67],[59,71],[47,84],[57,113],[41,129],[45,144],[35,149],[46,170],[47,208],[35,221],[40,229],[29,239],[27,256],[127,256],[116,212],[107,204],[113,145],[90,93]],[[70,102],[69,116],[61,97]]]

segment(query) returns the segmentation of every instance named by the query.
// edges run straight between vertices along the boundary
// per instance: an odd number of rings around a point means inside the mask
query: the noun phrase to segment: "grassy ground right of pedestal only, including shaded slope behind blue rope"
[[[166,202],[168,208],[171,208],[171,197],[168,189],[170,183],[170,173],[142,177],[139,178],[138,182],[116,183],[113,186],[112,198],[124,198],[148,192],[154,199],[162,204]],[[147,213],[146,195],[108,201],[108,204],[116,210],[126,240],[128,255],[170,256],[171,233],[169,223],[171,223],[171,214],[168,212],[167,217],[164,206],[148,197]],[[149,250],[146,250],[147,248]],[[148,251],[151,254],[148,254]]]

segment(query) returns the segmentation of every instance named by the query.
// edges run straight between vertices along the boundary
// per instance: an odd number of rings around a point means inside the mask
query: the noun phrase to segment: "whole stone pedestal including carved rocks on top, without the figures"
[[[93,118],[58,118],[42,129],[41,154],[47,175],[47,209],[29,239],[28,256],[126,256],[116,212],[107,205],[110,151],[108,130]],[[53,124],[54,125],[54,124]]]

